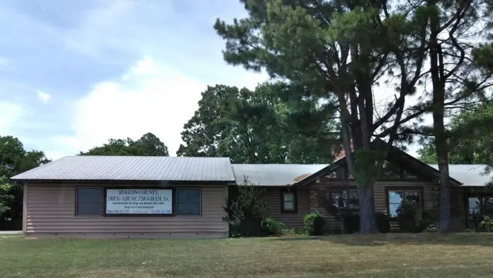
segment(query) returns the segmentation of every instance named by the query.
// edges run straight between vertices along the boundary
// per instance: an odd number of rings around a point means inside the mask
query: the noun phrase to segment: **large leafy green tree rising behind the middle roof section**
[[[230,157],[234,163],[331,162],[337,134],[328,117],[313,125],[293,113],[319,113],[310,101],[281,100],[286,84],[263,84],[250,91],[217,85],[203,91],[199,108],[185,124],[179,156]],[[296,107],[295,107],[296,106]]]

